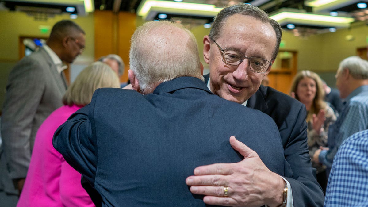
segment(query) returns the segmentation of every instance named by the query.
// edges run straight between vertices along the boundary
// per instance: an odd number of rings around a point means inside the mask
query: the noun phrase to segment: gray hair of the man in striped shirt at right
[[[348,69],[351,76],[355,79],[368,79],[368,61],[359,56],[347,57],[340,62],[338,72]]]

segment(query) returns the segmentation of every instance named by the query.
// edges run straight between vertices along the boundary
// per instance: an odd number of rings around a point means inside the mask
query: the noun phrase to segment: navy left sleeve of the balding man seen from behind
[[[53,137],[54,148],[91,184],[95,181],[97,168],[97,139],[93,122],[97,91],[93,95],[91,103],[72,114],[55,131]]]

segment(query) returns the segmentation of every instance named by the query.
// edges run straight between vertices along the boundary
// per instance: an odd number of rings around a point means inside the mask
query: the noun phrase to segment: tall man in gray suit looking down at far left
[[[36,132],[62,106],[67,83],[63,62],[85,47],[85,32],[70,20],[57,22],[46,45],[11,70],[1,117],[0,207],[15,206],[27,174]]]

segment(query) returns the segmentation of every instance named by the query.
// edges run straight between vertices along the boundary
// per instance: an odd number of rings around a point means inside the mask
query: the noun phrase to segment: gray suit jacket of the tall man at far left
[[[1,116],[0,189],[18,194],[12,179],[27,175],[36,132],[46,117],[63,105],[65,91],[65,80],[43,48],[11,70]]]

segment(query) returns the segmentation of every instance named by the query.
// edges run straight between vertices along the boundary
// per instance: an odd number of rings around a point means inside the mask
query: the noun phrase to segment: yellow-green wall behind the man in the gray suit
[[[50,28],[60,20],[69,19],[69,15],[55,15],[47,21],[36,21],[23,12],[0,11],[0,107],[2,108],[5,95],[7,77],[14,64],[19,60],[19,36],[47,37],[48,34],[40,32],[40,25]],[[94,59],[94,20],[93,14],[87,17],[78,17],[73,20],[86,32],[86,50],[79,56],[74,64],[88,64]]]

